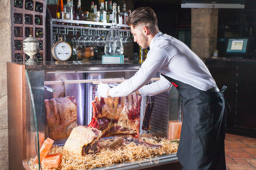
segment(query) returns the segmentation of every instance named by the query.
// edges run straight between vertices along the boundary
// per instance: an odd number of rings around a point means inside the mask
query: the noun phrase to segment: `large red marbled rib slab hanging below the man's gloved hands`
[[[138,95],[101,99],[95,97],[92,101],[93,115],[89,126],[101,130],[102,137],[137,137],[141,99]]]

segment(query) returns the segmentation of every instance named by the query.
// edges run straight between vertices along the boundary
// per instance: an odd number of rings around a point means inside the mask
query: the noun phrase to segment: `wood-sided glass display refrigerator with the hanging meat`
[[[87,126],[92,118],[92,101],[97,96],[97,82],[112,82],[117,85],[134,76],[141,63],[125,61],[122,64],[102,64],[101,61],[68,61],[55,64],[44,61],[37,65],[24,62],[7,63],[8,83],[8,143],[9,169],[30,170],[31,160],[40,155],[43,142],[49,137],[46,121],[46,99],[58,98],[65,92],[75,96],[77,101],[77,125]],[[159,73],[148,83],[159,79]],[[155,105],[151,117],[151,129],[142,130],[142,121],[149,96],[142,96],[140,107],[140,134],[168,138],[168,122],[181,121],[181,109],[178,92],[175,88],[155,95]],[[67,138],[54,141],[62,146]],[[155,156],[140,161],[113,163],[111,166],[97,167],[95,170],[137,170],[155,166],[180,168],[176,153]],[[40,168],[39,168],[40,169]]]

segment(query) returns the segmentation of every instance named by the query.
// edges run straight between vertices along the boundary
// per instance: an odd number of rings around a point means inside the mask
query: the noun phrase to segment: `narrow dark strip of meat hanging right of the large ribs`
[[[146,110],[143,118],[142,130],[150,130],[151,128],[151,115],[155,105],[155,96],[150,96],[151,101],[147,102]]]

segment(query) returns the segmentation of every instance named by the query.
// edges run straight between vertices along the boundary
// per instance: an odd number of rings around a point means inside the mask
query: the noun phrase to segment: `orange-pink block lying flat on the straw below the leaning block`
[[[61,156],[61,153],[48,154],[42,161],[42,166],[45,168],[57,168],[61,162]]]

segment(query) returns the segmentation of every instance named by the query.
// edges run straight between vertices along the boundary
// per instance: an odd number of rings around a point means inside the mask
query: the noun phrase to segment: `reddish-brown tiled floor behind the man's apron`
[[[256,138],[226,134],[227,170],[256,170]]]

